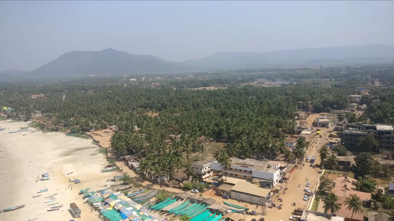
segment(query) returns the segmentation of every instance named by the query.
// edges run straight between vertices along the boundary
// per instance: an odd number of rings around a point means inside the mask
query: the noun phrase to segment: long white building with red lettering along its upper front
[[[224,171],[218,162],[211,162],[211,169],[214,172],[224,172],[227,177],[234,177],[237,179],[258,179],[260,186],[264,188],[271,188],[275,186],[281,176],[281,163],[273,161],[260,161],[253,159],[238,159],[230,158],[231,167]],[[284,165],[283,165],[284,166]]]

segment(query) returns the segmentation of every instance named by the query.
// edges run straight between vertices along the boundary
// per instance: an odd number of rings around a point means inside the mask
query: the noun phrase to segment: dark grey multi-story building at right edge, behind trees
[[[342,143],[345,147],[356,147],[358,139],[368,133],[375,134],[379,149],[394,150],[394,126],[392,124],[345,123],[342,129]]]

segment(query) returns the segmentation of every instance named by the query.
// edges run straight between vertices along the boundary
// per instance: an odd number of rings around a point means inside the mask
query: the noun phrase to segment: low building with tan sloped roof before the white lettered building
[[[271,190],[258,187],[249,182],[240,181],[231,188],[230,197],[248,203],[260,204],[262,198],[271,199]]]

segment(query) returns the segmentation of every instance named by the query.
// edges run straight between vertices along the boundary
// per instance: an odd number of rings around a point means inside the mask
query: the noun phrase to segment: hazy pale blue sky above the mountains
[[[216,52],[394,45],[394,1],[0,1],[0,71],[105,48],[171,61]]]

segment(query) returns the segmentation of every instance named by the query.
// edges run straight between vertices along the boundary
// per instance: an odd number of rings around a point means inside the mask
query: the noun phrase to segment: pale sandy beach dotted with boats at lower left
[[[88,204],[78,195],[79,190],[91,188],[91,191],[103,188],[106,182],[118,172],[101,173],[100,168],[106,165],[105,156],[99,153],[100,147],[91,139],[81,139],[65,136],[61,132],[43,134],[29,128],[29,131],[9,134],[17,131],[27,122],[0,121],[0,127],[7,129],[0,131],[0,188],[2,197],[0,208],[7,208],[25,204],[24,208],[2,212],[0,220],[28,221],[38,218],[39,221],[71,220],[74,217],[69,211],[69,204],[76,203],[82,211],[78,220],[100,220],[98,212],[91,212]],[[7,134],[3,134],[7,133]],[[22,134],[28,134],[22,136]],[[66,175],[74,171],[71,175]],[[42,173],[49,173],[50,180],[41,179]],[[74,184],[69,178],[79,178],[82,182]],[[72,184],[73,188],[68,188]],[[47,192],[37,191],[48,188]],[[56,201],[64,206],[60,210],[47,211],[50,207],[44,201],[48,194],[57,193]],[[76,199],[75,199],[76,198]]]

